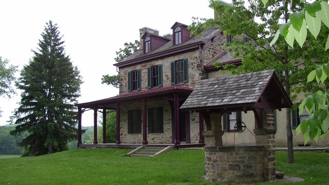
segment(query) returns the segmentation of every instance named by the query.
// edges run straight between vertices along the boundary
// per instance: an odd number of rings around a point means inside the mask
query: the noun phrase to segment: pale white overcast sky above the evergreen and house
[[[228,1],[228,0],[227,0]],[[228,1],[229,2],[229,1]],[[121,0],[121,1],[0,1],[0,56],[18,66],[24,65],[38,49],[41,33],[51,20],[63,35],[65,52],[80,70],[79,103],[113,97],[119,89],[101,83],[103,75],[117,75],[113,64],[116,51],[126,42],[139,40],[139,29],[159,30],[159,35],[172,33],[175,22],[190,25],[192,17],[213,18],[208,0]],[[20,92],[11,99],[0,97],[0,125],[19,107]],[[82,125],[93,125],[93,111],[82,116]]]

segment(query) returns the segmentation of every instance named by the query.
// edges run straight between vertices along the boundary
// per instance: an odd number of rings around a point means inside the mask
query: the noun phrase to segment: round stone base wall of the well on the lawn
[[[263,182],[263,145],[205,146],[205,180],[210,182]]]

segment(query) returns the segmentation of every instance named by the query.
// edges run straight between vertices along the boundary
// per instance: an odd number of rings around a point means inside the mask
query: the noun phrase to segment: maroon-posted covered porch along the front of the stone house
[[[190,141],[190,118],[189,114],[185,114],[179,107],[184,103],[187,97],[192,93],[194,88],[180,86],[180,85],[170,85],[161,88],[144,89],[139,91],[133,91],[130,93],[121,93],[118,96],[77,104],[78,106],[78,147],[80,148],[93,148],[93,147],[109,147],[109,148],[136,148],[141,145],[173,145],[177,149],[182,147],[196,147],[204,146],[204,137],[199,134],[198,143],[191,144]],[[164,100],[167,101],[170,106],[171,114],[171,142],[167,143],[149,143],[148,141],[148,116],[147,110],[148,105],[152,102]],[[126,132],[123,129],[123,124],[126,122],[125,115],[122,114],[122,107],[130,104],[138,104],[141,107],[141,142],[122,142],[122,132]],[[83,112],[91,110],[94,112],[94,143],[93,144],[83,144],[82,143],[82,114]],[[116,118],[116,142],[107,143],[106,142],[106,113],[115,111],[117,114]],[[97,124],[98,124],[98,114],[102,114],[103,122],[103,140],[102,143],[97,141]],[[120,115],[121,114],[121,115]],[[186,117],[186,119],[181,119],[180,117]],[[124,119],[124,120],[123,120]],[[184,120],[184,122],[182,122]],[[198,132],[202,133],[203,119],[200,117],[198,120]],[[181,124],[184,124],[182,127]],[[167,129],[168,130],[168,129]],[[182,131],[183,130],[183,131]],[[184,141],[182,141],[182,134],[184,134]]]

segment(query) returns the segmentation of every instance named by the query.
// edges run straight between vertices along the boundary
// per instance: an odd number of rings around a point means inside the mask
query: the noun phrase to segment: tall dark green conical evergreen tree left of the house
[[[22,140],[25,156],[37,156],[67,150],[77,138],[77,98],[82,79],[77,67],[66,56],[57,24],[46,23],[34,57],[21,71],[16,83],[22,90],[20,107],[12,135],[29,133]]]

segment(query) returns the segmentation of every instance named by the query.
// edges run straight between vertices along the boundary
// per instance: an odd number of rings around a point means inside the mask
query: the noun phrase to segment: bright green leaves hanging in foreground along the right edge
[[[295,0],[296,1],[296,0]],[[264,6],[268,0],[262,0]],[[293,2],[291,0],[290,4]],[[329,5],[327,1],[305,2],[304,9],[290,14],[286,24],[282,24],[277,31],[270,45],[276,43],[279,35],[282,35],[287,44],[294,48],[296,40],[300,47],[303,47],[306,40],[307,32],[310,32],[317,39],[322,23],[329,28]],[[287,3],[287,2],[285,2]],[[322,29],[324,31],[324,29]],[[327,34],[325,50],[329,49],[329,34]],[[329,76],[329,63],[321,65],[321,67],[311,71],[307,77],[307,83],[314,83],[314,79],[319,86],[325,87],[325,80]],[[324,88],[326,89],[326,88]],[[299,105],[299,114],[305,109],[309,116],[297,127],[297,134],[302,133],[304,144],[309,140],[318,141],[323,139],[329,132],[329,93],[327,90],[319,90],[313,95],[307,96]]]

